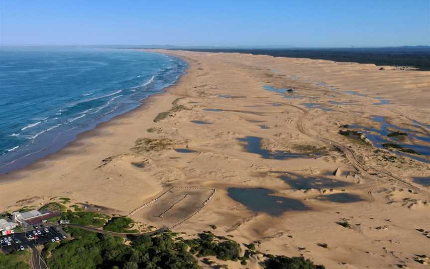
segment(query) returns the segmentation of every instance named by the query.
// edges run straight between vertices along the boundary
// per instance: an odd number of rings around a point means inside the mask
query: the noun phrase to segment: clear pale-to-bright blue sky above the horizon
[[[1,45],[430,45],[430,0],[0,0]]]

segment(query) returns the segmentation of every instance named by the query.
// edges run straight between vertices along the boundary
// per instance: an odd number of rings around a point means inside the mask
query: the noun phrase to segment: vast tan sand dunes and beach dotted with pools
[[[326,268],[427,267],[430,71],[157,52],[187,73],[1,175],[0,212],[67,197],[189,235],[216,227]]]

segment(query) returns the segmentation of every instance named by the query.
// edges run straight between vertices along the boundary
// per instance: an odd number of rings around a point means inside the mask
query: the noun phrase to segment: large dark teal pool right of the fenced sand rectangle
[[[310,210],[303,202],[271,195],[274,192],[263,188],[228,188],[228,196],[254,212],[281,215],[291,210]]]

